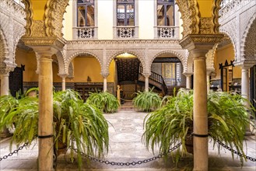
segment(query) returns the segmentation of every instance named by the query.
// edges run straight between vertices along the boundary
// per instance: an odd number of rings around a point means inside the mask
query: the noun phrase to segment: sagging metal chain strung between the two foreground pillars
[[[168,150],[168,152],[173,152],[174,150],[176,150],[177,148],[179,148],[180,146],[182,145],[182,143],[180,142],[179,144],[177,145],[174,145],[173,148],[170,148]],[[72,148],[76,153],[78,153],[78,150],[76,148]],[[92,157],[92,156],[89,156],[89,155],[86,155],[84,152],[80,152],[80,154],[84,157],[86,157],[87,159],[90,159],[90,160],[93,160],[95,162],[100,162],[100,163],[104,163],[106,165],[112,165],[112,166],[135,166],[135,165],[141,165],[143,163],[147,163],[147,162],[152,162],[156,159],[160,159],[162,158],[164,155],[167,155],[167,154],[160,154],[160,155],[156,155],[152,158],[149,158],[149,159],[144,159],[144,160],[139,160],[139,161],[136,161],[136,162],[110,162],[108,160],[102,160],[102,159],[97,159],[95,157]]]

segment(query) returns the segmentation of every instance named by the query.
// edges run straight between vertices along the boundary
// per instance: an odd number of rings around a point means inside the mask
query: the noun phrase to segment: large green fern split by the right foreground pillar
[[[244,100],[237,94],[209,92],[207,102],[209,134],[242,154],[245,128],[250,123],[247,111],[252,109],[244,106]],[[177,162],[187,152],[185,138],[193,131],[193,90],[180,89],[177,96],[167,97],[162,108],[146,116],[144,124],[143,139],[152,151],[159,146],[161,153],[167,153],[181,141],[181,153],[174,158]]]

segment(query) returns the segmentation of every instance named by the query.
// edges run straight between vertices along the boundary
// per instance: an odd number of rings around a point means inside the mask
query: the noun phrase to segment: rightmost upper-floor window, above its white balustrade
[[[174,26],[174,0],[157,0],[157,26]]]

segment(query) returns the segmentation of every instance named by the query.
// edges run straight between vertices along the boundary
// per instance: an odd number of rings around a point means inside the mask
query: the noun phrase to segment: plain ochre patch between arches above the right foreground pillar
[[[212,0],[198,0],[198,6],[201,17],[212,16]]]

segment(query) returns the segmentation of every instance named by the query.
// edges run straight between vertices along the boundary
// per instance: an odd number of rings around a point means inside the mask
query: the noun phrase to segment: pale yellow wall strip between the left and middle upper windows
[[[98,38],[113,39],[113,1],[98,0]]]

